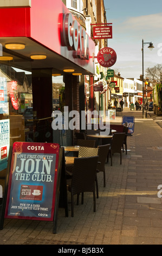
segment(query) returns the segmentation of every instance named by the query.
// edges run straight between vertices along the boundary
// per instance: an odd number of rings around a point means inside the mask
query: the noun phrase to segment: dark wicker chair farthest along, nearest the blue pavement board
[[[113,135],[111,148],[109,149],[109,153],[111,155],[111,166],[113,165],[112,156],[114,153],[120,154],[120,164],[121,164],[121,148],[122,148],[122,143],[124,142],[124,138],[125,138],[125,132],[121,132],[121,133],[116,132]],[[108,159],[107,159],[107,162],[108,162]]]

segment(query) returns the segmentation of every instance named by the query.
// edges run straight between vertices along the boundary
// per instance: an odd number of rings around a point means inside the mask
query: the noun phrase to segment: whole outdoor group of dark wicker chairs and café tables
[[[80,193],[81,204],[83,204],[84,192],[93,192],[95,211],[95,197],[99,198],[98,173],[103,172],[103,187],[106,187],[105,164],[109,164],[109,159],[111,159],[111,166],[113,166],[114,154],[116,157],[119,155],[119,162],[122,164],[124,146],[127,154],[127,132],[128,127],[116,124],[111,125],[109,135],[100,135],[100,130],[76,132],[76,145],[64,147],[67,188],[72,200],[72,217],[74,216],[75,194],[78,205]]]

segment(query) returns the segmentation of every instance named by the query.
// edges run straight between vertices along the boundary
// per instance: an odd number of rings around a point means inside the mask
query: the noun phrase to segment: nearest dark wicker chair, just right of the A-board
[[[72,183],[68,186],[72,199],[72,217],[74,217],[74,196],[77,194],[77,205],[79,194],[82,193],[82,204],[84,192],[93,192],[93,210],[96,211],[95,201],[95,178],[98,156],[78,157],[74,160]]]

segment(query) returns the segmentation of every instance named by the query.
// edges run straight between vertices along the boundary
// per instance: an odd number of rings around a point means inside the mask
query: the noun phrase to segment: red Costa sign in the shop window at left
[[[19,108],[18,102],[18,92],[17,92],[17,82],[11,81],[8,83],[10,99],[12,102],[12,106],[17,110]]]

